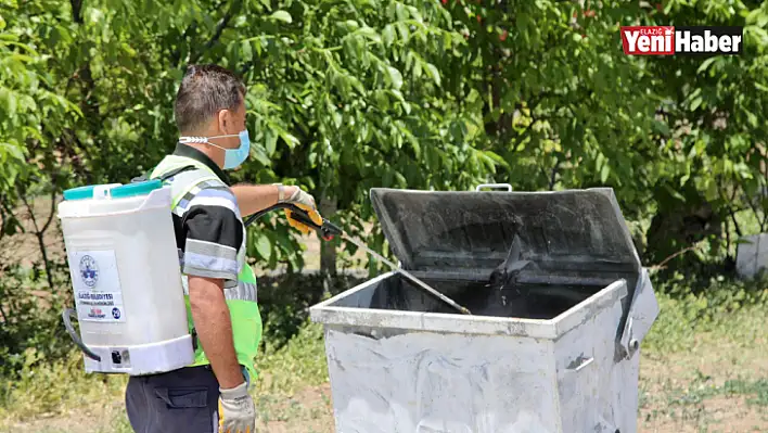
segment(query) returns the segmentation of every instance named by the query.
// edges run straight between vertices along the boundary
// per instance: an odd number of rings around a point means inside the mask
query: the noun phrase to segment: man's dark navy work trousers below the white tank
[[[126,411],[136,433],[217,433],[219,383],[208,366],[131,377]]]

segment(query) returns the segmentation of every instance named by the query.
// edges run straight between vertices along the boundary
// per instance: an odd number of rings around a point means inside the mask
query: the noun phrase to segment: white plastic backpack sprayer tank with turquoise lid
[[[170,190],[158,180],[67,190],[59,218],[81,343],[68,330],[86,371],[140,375],[192,364]]]

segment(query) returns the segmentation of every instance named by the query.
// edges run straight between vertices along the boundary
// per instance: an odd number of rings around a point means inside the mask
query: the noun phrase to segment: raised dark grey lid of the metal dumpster
[[[613,189],[556,192],[371,189],[373,208],[402,268],[488,276],[515,235],[539,276],[627,278],[641,264]],[[630,289],[630,290],[631,290]]]

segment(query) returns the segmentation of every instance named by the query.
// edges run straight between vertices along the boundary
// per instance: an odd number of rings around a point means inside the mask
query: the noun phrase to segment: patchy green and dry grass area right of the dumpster
[[[657,295],[662,314],[642,344],[641,431],[768,431],[768,291],[721,290],[731,297],[716,305],[713,293]]]

